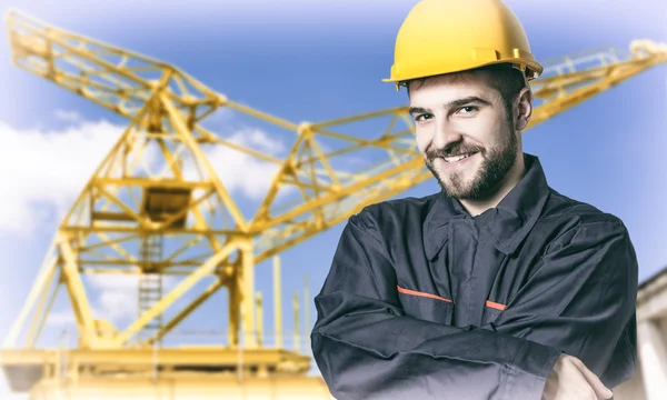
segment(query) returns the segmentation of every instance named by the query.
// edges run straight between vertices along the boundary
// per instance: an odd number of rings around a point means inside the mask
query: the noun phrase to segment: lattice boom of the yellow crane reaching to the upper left
[[[220,100],[213,90],[165,62],[53,28],[17,10],[7,13],[7,23],[14,64],[128,119],[160,86],[191,122],[210,113]]]

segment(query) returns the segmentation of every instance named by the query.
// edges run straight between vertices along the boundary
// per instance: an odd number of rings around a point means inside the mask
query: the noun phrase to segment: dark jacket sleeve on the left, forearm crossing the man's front
[[[315,302],[313,358],[347,399],[535,399],[560,351],[489,329],[411,318],[396,273],[364,214],[346,224]]]

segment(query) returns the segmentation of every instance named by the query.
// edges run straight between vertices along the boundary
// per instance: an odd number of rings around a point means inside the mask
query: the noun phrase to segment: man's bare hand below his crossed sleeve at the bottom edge
[[[561,354],[547,377],[542,400],[597,400],[613,394],[581,360]]]

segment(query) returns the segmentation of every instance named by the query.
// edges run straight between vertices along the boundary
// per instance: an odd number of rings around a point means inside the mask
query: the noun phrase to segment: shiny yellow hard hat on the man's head
[[[396,37],[391,77],[401,82],[495,63],[511,63],[528,80],[542,67],[528,38],[501,0],[422,0],[406,17]]]

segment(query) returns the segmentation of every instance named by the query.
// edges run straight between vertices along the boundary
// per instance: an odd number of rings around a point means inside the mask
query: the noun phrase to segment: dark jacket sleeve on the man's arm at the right
[[[583,223],[556,239],[487,327],[579,358],[608,387],[636,368],[638,266],[619,220]]]

